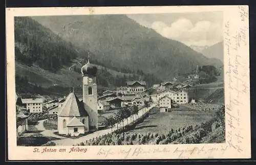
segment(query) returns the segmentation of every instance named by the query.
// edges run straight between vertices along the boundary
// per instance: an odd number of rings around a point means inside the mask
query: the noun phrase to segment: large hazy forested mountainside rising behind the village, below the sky
[[[76,49],[94,52],[92,59],[106,67],[143,70],[162,80],[195,69],[197,65],[222,65],[185,44],[162,37],[125,15],[32,17],[69,40]],[[166,72],[167,71],[167,72]]]

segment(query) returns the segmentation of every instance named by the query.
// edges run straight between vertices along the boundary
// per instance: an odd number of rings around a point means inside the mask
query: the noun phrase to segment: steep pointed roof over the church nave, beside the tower
[[[88,116],[83,104],[78,100],[74,92],[71,92],[61,107],[58,116]]]

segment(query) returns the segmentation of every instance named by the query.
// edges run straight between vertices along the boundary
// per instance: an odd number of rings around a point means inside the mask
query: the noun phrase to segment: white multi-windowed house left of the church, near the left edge
[[[43,99],[22,99],[23,104],[26,105],[26,109],[30,113],[40,113],[42,112]]]

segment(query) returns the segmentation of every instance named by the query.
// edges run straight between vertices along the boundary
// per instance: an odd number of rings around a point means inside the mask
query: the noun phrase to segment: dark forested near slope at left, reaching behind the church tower
[[[70,87],[81,90],[80,68],[87,62],[87,57],[80,57],[84,56],[87,56],[87,52],[78,51],[70,42],[37,21],[29,17],[15,17],[15,76],[18,92],[43,94],[54,93],[58,89],[58,93],[65,90],[67,94]],[[123,86],[125,81],[140,77],[150,85],[158,81],[153,75],[131,73],[131,70],[123,67],[118,68],[123,71],[120,72],[98,64],[95,59],[91,62],[98,68],[99,89]]]

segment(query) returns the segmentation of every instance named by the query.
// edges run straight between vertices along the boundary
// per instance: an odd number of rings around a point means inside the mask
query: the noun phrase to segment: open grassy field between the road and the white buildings
[[[183,109],[183,110],[182,110]],[[160,112],[158,108],[153,109],[150,115],[130,133],[167,133],[170,129],[176,129],[184,126],[201,125],[202,122],[214,117],[216,111],[195,111],[184,109],[184,107],[175,108],[172,112]]]

